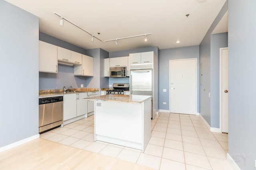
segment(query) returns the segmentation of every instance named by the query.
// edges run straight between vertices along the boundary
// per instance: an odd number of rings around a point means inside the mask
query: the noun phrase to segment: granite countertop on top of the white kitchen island
[[[104,96],[86,98],[86,100],[92,100],[92,101],[96,100],[96,101],[104,101],[104,102],[141,103],[151,97],[152,96],[107,94]]]

